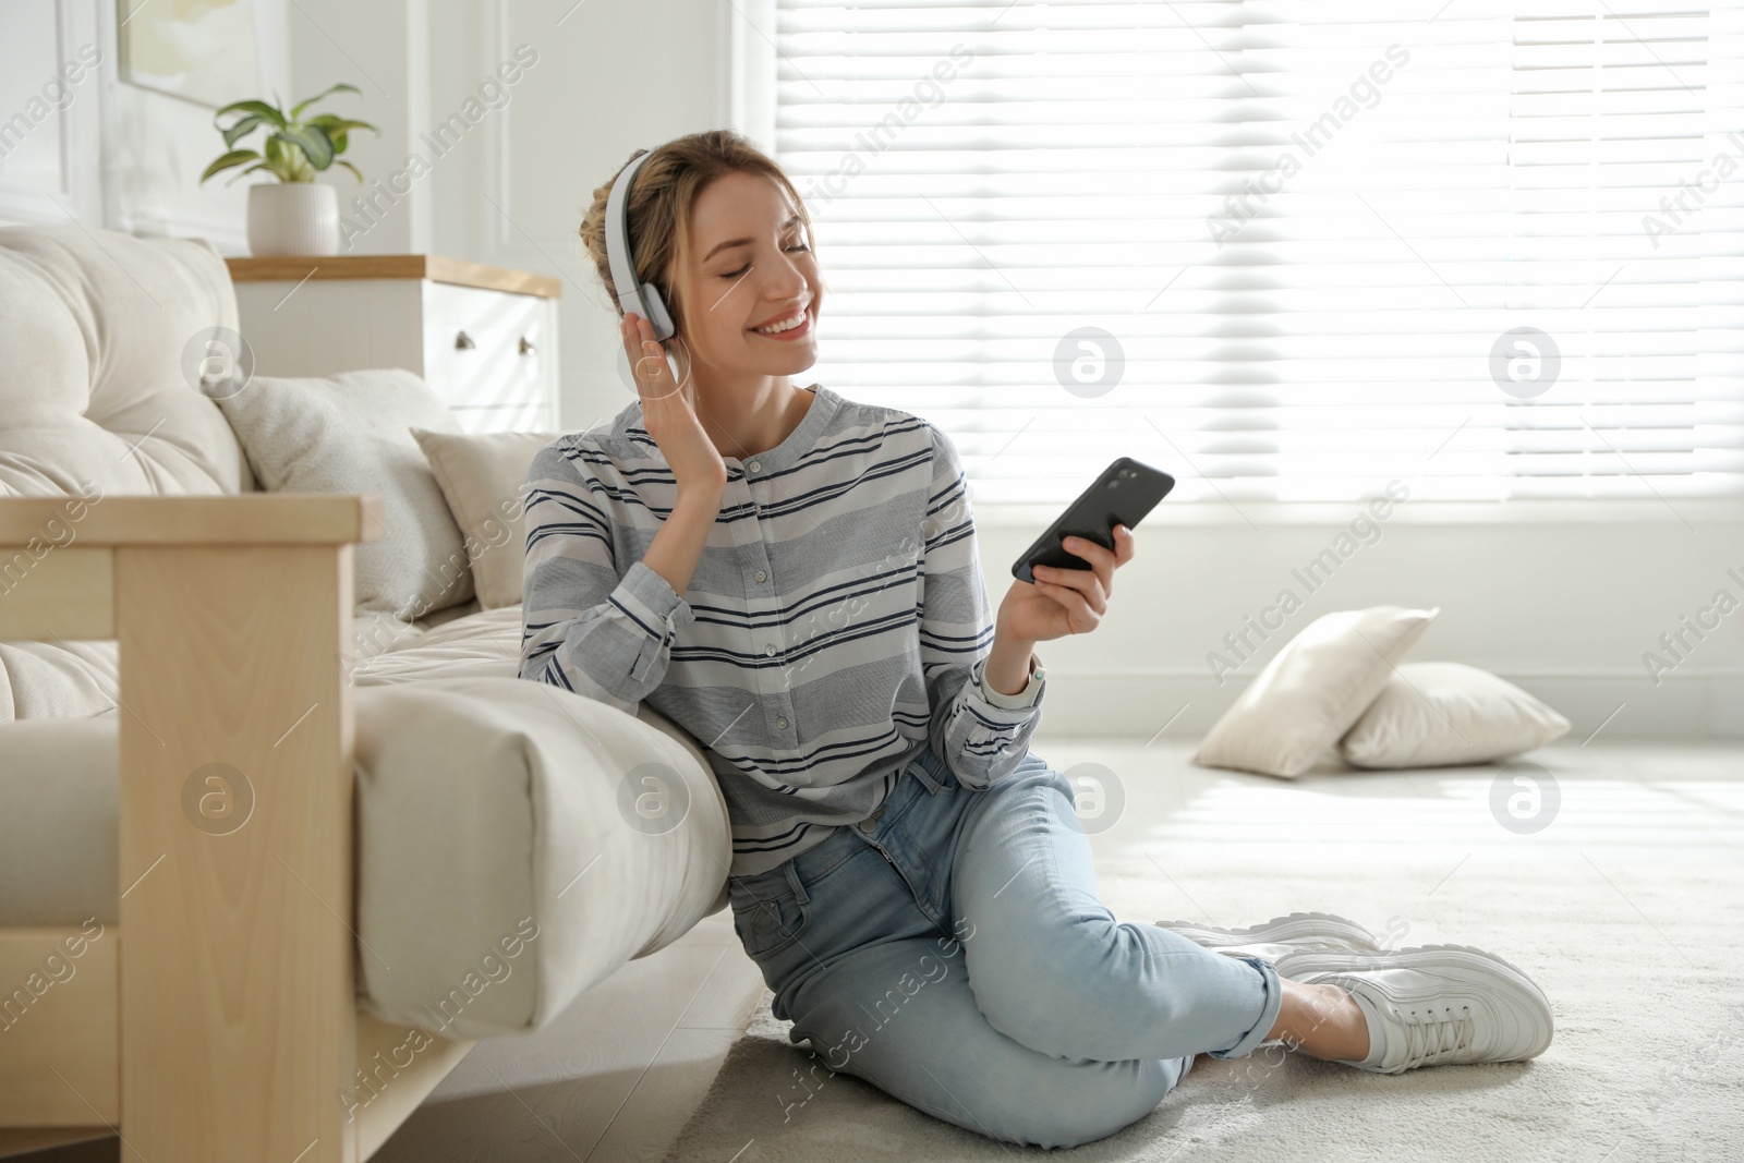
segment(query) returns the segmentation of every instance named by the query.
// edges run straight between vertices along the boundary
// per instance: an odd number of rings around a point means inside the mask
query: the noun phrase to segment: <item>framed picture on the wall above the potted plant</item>
[[[220,108],[260,92],[255,0],[115,0],[120,78]]]

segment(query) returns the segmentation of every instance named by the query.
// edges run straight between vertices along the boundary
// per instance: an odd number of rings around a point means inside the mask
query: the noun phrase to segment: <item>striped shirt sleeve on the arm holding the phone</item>
[[[930,738],[959,783],[985,790],[1012,774],[1041,722],[1045,682],[1015,694],[985,685],[994,619],[975,549],[975,516],[957,450],[937,427],[921,551],[921,673]]]

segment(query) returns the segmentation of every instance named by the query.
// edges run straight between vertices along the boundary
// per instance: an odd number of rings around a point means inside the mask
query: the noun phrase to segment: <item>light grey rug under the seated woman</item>
[[[1744,872],[1641,851],[1505,847],[1451,860],[1270,860],[1168,867],[1125,853],[1099,889],[1121,921],[1252,924],[1322,908],[1385,947],[1465,943],[1526,969],[1556,1037],[1531,1062],[1369,1074],[1261,1048],[1202,1058],[1146,1118],[1060,1151],[1074,1160],[1744,1160]],[[1168,868],[1167,872],[1163,868]],[[1170,875],[1174,874],[1174,875]],[[1189,886],[1193,905],[1184,900]],[[769,994],[694,1111],[671,1161],[1012,1160],[790,1044]],[[811,1088],[800,1072],[820,1065]],[[809,1098],[795,1102],[809,1093]],[[790,1105],[794,1104],[794,1105]],[[1055,1154],[1055,1153],[1048,1153]]]

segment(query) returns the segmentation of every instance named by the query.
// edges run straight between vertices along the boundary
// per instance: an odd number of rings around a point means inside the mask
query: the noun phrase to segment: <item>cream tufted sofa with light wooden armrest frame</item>
[[[726,903],[694,741],[520,680],[518,605],[359,612],[378,497],[260,490],[211,326],[204,242],[0,230],[0,1154],[368,1158]]]

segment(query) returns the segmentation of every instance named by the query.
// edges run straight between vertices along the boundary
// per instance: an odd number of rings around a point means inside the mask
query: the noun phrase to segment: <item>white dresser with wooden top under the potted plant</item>
[[[555,432],[558,279],[436,255],[230,258],[258,375],[408,368],[466,432]]]

